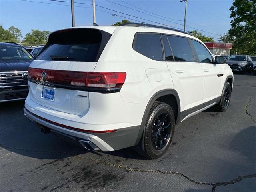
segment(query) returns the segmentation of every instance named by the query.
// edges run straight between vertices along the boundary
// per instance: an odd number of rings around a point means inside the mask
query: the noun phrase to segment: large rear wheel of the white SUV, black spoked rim
[[[174,129],[172,107],[163,102],[154,102],[144,130],[144,150],[140,154],[149,159],[161,157],[172,142]]]

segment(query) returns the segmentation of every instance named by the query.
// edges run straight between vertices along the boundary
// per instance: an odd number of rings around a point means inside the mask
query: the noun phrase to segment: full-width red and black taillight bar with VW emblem
[[[45,76],[43,75],[45,72]],[[126,72],[77,72],[63,70],[47,70],[28,68],[30,81],[47,86],[72,88],[77,90],[89,90],[98,92],[118,92],[124,84]],[[64,85],[68,87],[64,87]],[[78,88],[79,87],[79,88]],[[99,91],[101,92],[101,91]]]

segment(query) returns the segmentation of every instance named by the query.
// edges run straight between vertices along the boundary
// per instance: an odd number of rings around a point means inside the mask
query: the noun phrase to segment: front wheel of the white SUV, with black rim
[[[217,112],[224,112],[228,109],[231,98],[231,85],[229,82],[226,82],[222,90],[220,102],[213,106],[214,110]]]

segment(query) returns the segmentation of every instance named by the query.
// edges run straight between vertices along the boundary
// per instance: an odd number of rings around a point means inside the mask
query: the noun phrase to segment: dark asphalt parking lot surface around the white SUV
[[[88,152],[40,132],[24,116],[24,101],[3,103],[0,190],[256,191],[255,97],[255,76],[236,74],[228,110],[180,123],[157,160],[131,148]]]

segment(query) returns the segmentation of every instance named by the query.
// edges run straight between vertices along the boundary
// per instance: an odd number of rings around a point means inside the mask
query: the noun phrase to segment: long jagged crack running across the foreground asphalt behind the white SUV
[[[51,154],[69,154],[69,155],[71,155],[74,158],[86,159],[86,160],[97,162],[97,163],[100,163],[100,164],[103,164],[103,165],[106,165],[106,166],[111,166],[111,167],[123,169],[123,170],[126,170],[126,171],[130,171],[130,172],[156,172],[156,173],[161,173],[161,174],[166,174],[166,175],[167,174],[179,175],[179,176],[182,176],[182,177],[186,178],[188,181],[190,181],[190,182],[192,182],[194,184],[212,186],[212,192],[215,192],[215,189],[216,189],[217,186],[232,185],[232,184],[235,184],[237,182],[242,181],[243,179],[256,177],[256,174],[248,174],[248,175],[242,175],[242,176],[239,175],[237,178],[234,178],[233,180],[224,181],[224,182],[199,182],[199,181],[196,181],[196,180],[193,180],[193,179],[189,178],[188,176],[186,176],[185,174],[182,174],[180,172],[174,172],[174,171],[166,172],[166,171],[162,171],[162,170],[158,170],[158,169],[143,170],[143,169],[130,168],[130,167],[127,167],[127,166],[113,164],[113,163],[106,162],[106,161],[103,161],[103,160],[98,160],[98,159],[89,158],[89,157],[77,156],[77,155],[74,155],[74,154],[69,153],[69,152],[26,150],[26,149],[22,149],[22,148],[12,148],[12,147],[7,147],[7,146],[3,146],[3,145],[0,145],[0,147],[1,148],[6,148],[6,149],[12,149],[12,150],[22,150],[22,151],[26,151],[26,152],[40,152],[40,153],[51,153]],[[60,160],[60,159],[58,159],[58,160]],[[54,161],[52,161],[50,163],[42,164],[39,167],[42,167],[42,166],[45,166],[45,165],[48,165],[48,164],[52,164],[52,163],[54,163],[54,162],[56,162],[58,160],[54,160]]]

